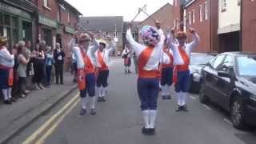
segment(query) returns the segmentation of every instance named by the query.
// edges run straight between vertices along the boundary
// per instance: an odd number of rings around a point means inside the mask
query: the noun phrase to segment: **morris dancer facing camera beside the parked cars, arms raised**
[[[187,111],[186,106],[186,98],[187,91],[189,89],[189,80],[190,80],[190,54],[191,51],[194,50],[200,41],[200,38],[194,29],[189,30],[191,34],[193,34],[194,41],[190,43],[186,42],[186,33],[183,31],[179,31],[177,33],[177,41],[178,44],[174,43],[174,30],[171,30],[171,35],[169,37],[170,48],[174,53],[174,65],[175,71],[174,77],[176,77],[177,82],[175,84],[175,91],[178,99],[178,107],[176,111],[185,110]]]

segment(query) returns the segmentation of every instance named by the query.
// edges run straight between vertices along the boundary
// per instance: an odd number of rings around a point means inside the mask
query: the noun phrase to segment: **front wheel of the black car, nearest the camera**
[[[230,107],[230,117],[234,127],[238,129],[244,128],[244,106],[241,98],[235,97],[232,100]]]

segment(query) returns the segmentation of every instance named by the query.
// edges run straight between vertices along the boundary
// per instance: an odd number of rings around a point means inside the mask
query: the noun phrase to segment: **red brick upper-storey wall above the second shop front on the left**
[[[38,0],[38,10],[39,13],[46,15],[48,18],[52,18],[57,20],[58,14],[58,1],[57,0],[48,0],[48,7],[51,9],[47,9],[44,6],[43,0]]]

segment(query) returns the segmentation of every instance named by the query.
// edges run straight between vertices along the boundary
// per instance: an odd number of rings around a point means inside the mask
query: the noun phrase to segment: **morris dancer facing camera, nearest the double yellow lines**
[[[77,46],[75,45],[75,38],[78,38]],[[92,46],[90,46],[90,41],[93,42]],[[96,114],[94,52],[98,49],[98,42],[94,39],[93,34],[80,34],[79,36],[74,34],[69,46],[74,53],[78,68],[77,82],[82,103],[80,115],[86,114],[86,93],[90,97],[90,114]]]

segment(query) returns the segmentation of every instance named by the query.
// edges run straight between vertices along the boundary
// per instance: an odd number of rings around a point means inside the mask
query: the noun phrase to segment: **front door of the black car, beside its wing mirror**
[[[231,74],[234,73],[234,68],[231,67],[234,67],[234,58],[231,55],[226,55],[226,58],[222,64],[218,66],[218,71],[226,72],[231,76],[234,75]],[[217,94],[217,101],[223,107],[228,106],[226,102],[229,102],[230,92],[234,87],[234,81],[232,82],[231,78],[218,76],[218,80],[214,84],[214,89],[216,90]]]

